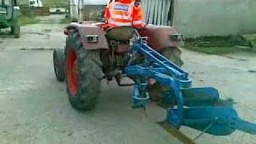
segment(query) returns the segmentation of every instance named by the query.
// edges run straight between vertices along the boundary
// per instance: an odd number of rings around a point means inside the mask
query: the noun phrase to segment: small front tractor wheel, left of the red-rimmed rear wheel
[[[53,53],[54,59],[54,73],[59,82],[64,82],[65,71],[64,71],[64,50],[55,49]]]

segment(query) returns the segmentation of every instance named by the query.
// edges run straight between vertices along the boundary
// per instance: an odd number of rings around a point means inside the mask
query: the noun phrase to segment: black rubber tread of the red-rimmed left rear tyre
[[[102,69],[98,50],[86,50],[78,33],[67,40],[74,44],[78,54],[79,80],[77,96],[70,96],[71,105],[77,110],[91,110],[98,103],[101,88]],[[67,88],[69,93],[69,90]]]

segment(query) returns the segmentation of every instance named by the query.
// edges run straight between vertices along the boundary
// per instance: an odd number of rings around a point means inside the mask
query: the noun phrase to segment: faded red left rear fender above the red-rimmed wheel
[[[102,30],[100,26],[72,23],[70,26],[66,27],[64,34],[69,35],[74,31],[80,34],[83,47],[86,50],[108,49],[108,43],[105,37],[106,32]],[[87,40],[87,37],[97,38],[98,40],[97,42],[90,42]]]

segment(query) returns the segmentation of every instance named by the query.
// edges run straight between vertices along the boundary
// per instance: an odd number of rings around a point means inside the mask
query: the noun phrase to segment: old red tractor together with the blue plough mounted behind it
[[[174,27],[102,30],[103,24],[67,26],[65,49],[54,50],[55,75],[58,81],[65,80],[75,109],[94,108],[102,79],[115,79],[118,86],[134,86],[133,108],[157,102],[167,110],[165,123],[176,129],[189,126],[202,134],[230,135],[234,130],[256,134],[256,124],[239,118],[232,100],[220,98],[213,87],[192,87],[190,74],[181,67],[182,37]],[[123,83],[122,78],[133,83]]]

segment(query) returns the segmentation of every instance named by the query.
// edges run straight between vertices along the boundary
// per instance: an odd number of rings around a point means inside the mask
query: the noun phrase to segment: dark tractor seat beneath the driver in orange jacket
[[[132,26],[121,26],[106,30],[106,38],[118,42],[127,42],[134,36],[135,28]]]

